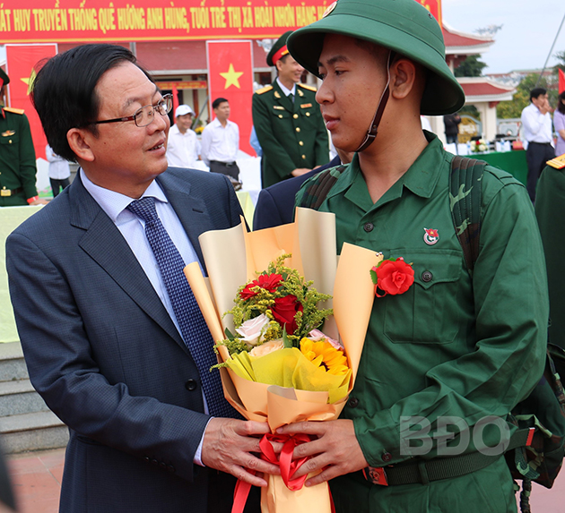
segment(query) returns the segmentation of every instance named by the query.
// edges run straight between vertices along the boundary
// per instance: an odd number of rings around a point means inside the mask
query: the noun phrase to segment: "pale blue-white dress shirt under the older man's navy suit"
[[[182,337],[182,331],[180,331],[180,327],[178,326],[177,317],[173,311],[172,304],[170,304],[167,288],[161,278],[159,264],[157,263],[155,255],[152,252],[151,245],[145,236],[145,221],[126,209],[127,205],[134,200],[132,200],[129,196],[120,194],[119,192],[110,191],[109,189],[104,189],[99,185],[92,184],[89,178],[84,174],[83,169],[80,170],[80,177],[84,188],[90,192],[94,201],[100,205],[100,209],[104,210],[108,214],[108,217],[126,239],[126,243],[131,248],[139,264],[142,266],[145,275],[149,278],[149,281],[157,295],[159,295],[162,304],[167,309],[167,312],[169,312],[170,319],[175,323],[178,333]],[[185,264],[198,261],[198,256],[196,255],[195,249],[188,238],[187,232],[185,232],[185,229],[182,227],[175,210],[167,200],[167,196],[165,196],[165,193],[162,191],[159,184],[157,184],[154,180],[149,187],[147,187],[147,190],[143,192],[142,198],[145,198],[146,196],[152,196],[155,198],[155,209],[157,210],[157,215],[161,219],[161,223],[163,227],[165,227],[165,230],[167,230],[172,242],[177,246],[178,252],[180,253],[183,261],[185,261]],[[200,269],[203,270],[200,261],[198,261],[198,265],[200,265]],[[204,398],[204,411],[205,413],[208,413],[208,406],[206,404],[204,392],[202,393],[202,396]],[[204,433],[200,440],[200,444],[198,445],[198,449],[196,449],[194,458],[194,462],[200,466],[203,466],[203,442]]]

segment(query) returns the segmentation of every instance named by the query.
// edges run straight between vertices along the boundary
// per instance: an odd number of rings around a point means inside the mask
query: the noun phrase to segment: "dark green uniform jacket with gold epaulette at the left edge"
[[[27,116],[21,109],[2,108],[0,114],[0,207],[27,205],[28,198],[37,196],[36,174],[35,150],[33,141],[31,141],[30,122]]]

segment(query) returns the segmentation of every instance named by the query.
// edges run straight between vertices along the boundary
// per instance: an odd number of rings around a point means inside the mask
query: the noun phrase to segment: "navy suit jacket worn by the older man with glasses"
[[[157,181],[200,261],[198,235],[239,224],[224,175],[170,168]],[[30,379],[70,429],[61,511],[204,512],[209,470],[193,457],[209,416],[196,364],[81,180],[6,250]]]

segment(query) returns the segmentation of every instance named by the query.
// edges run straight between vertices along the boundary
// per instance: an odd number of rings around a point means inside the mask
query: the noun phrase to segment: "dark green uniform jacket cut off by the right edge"
[[[545,167],[537,183],[535,216],[542,234],[550,295],[549,339],[565,349],[565,169]]]

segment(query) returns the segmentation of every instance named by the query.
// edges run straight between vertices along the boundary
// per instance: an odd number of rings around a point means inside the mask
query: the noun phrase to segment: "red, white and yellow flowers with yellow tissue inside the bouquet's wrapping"
[[[296,269],[283,265],[291,254],[280,256],[266,271],[244,286],[234,300],[235,334],[218,342],[230,352],[219,366],[239,377],[279,387],[327,391],[335,403],[348,394],[352,372],[338,341],[317,328],[331,309],[317,304],[331,299],[318,293]]]

